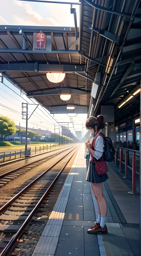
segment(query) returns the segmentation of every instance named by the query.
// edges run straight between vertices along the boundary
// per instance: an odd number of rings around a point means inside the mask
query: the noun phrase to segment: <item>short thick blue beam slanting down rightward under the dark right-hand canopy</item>
[[[98,33],[100,36],[103,36],[105,38],[107,38],[108,40],[112,41],[112,42],[117,42],[119,39],[118,35],[112,34],[104,29],[99,29],[96,27],[89,27],[91,30],[93,30],[94,32]]]

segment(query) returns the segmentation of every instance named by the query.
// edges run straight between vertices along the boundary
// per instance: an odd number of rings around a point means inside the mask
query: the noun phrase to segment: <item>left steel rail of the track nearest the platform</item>
[[[76,146],[79,147],[79,146]],[[74,149],[76,149],[76,147]],[[71,152],[71,151],[70,151]],[[69,152],[69,153],[70,153]],[[69,154],[68,153],[68,154]],[[66,154],[66,155],[68,155]],[[65,155],[65,156],[66,156]],[[48,169],[46,169],[42,174],[40,174],[34,181],[30,182],[25,188],[23,188],[20,192],[18,192],[18,194],[16,194],[15,196],[13,196],[7,203],[5,203],[1,208],[0,208],[0,212],[2,212],[4,209],[7,208],[7,206],[9,206],[11,203],[13,203],[13,201],[15,201],[15,199],[17,199],[26,189],[28,189],[30,186],[32,186],[38,179],[40,179],[46,172],[48,172],[52,167],[54,167],[56,164],[58,164],[65,156],[63,156],[61,159],[59,159],[56,163],[54,163],[53,165],[51,165]]]

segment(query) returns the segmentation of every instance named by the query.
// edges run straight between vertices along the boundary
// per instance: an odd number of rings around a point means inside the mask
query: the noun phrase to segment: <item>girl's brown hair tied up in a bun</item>
[[[94,129],[95,131],[95,126],[98,127],[98,131],[100,129],[104,129],[104,117],[103,115],[98,115],[97,118],[94,116],[90,116],[87,120],[86,120],[86,129]]]

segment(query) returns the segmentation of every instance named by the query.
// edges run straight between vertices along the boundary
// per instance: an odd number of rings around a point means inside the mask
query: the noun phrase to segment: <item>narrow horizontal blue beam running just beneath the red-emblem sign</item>
[[[40,51],[40,50],[17,50],[17,49],[0,49],[0,53],[55,53],[55,54],[78,54],[77,50],[53,50],[53,51]]]

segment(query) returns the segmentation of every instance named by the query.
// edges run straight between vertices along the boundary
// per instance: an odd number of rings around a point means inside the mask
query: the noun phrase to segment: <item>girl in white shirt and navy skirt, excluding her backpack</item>
[[[86,147],[90,152],[90,161],[86,180],[91,183],[98,207],[98,220],[93,227],[88,229],[89,234],[107,234],[105,225],[107,214],[107,202],[103,195],[103,182],[108,179],[108,169],[104,160],[104,118],[91,116],[86,121],[86,128],[94,135],[91,141],[86,141]]]

